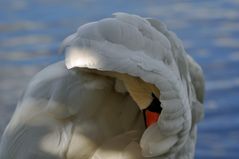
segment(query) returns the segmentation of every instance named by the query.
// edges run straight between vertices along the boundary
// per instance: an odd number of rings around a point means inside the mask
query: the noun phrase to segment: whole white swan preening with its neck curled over
[[[163,23],[115,13],[61,50],[18,102],[0,159],[194,158],[203,72]]]

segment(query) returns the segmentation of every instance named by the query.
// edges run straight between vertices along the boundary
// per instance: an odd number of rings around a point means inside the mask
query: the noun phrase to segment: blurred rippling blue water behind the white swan
[[[202,66],[206,114],[196,159],[238,159],[238,0],[0,0],[0,135],[33,75],[64,58],[62,40],[119,11],[160,19]]]

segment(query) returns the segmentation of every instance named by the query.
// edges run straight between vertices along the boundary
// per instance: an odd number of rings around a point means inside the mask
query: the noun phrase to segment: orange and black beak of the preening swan
[[[156,123],[162,111],[161,102],[159,101],[159,99],[153,93],[152,97],[153,100],[150,105],[143,110],[146,127],[149,127],[153,123]]]

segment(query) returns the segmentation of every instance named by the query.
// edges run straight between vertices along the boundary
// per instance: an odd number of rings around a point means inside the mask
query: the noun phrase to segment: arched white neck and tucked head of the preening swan
[[[159,117],[151,114],[153,122],[146,121],[140,140],[144,157],[192,158],[196,123],[203,116],[203,73],[163,23],[115,13],[81,26],[62,47],[68,69],[87,68],[116,77],[141,110],[157,103],[157,111],[151,113]]]

